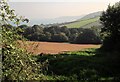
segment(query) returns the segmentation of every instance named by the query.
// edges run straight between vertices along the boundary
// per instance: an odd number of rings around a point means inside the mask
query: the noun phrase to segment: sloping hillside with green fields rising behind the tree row
[[[90,13],[86,16],[84,16],[81,19],[78,19],[73,22],[65,23],[64,25],[67,26],[68,28],[90,28],[92,26],[101,26],[100,24],[100,12],[95,12],[95,13]]]

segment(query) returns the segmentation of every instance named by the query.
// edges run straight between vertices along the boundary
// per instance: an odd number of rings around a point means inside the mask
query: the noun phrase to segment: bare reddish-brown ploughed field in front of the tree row
[[[35,41],[18,41],[20,47],[25,48],[33,54],[58,54],[67,51],[80,51],[86,48],[99,48],[100,45],[92,44],[69,44],[56,42],[35,42]]]

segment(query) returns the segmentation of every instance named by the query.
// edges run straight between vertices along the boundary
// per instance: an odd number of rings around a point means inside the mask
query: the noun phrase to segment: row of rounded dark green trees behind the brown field
[[[27,27],[19,26],[24,29],[24,37],[31,41],[51,41],[51,42],[70,42],[70,43],[101,43],[100,28],[67,28],[66,26],[42,27],[34,25]]]

